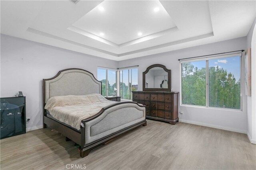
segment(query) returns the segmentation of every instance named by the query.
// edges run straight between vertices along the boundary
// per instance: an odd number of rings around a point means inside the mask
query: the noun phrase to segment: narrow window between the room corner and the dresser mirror
[[[120,96],[132,100],[132,91],[138,90],[138,68],[120,70]]]

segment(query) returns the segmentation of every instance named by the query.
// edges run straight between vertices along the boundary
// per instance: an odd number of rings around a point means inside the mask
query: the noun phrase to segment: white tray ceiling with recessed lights
[[[1,33],[115,61],[247,35],[256,1],[2,1]]]

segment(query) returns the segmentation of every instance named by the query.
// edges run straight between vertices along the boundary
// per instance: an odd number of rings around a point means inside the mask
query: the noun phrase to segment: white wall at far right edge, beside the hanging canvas
[[[252,74],[251,74],[251,81],[252,81],[252,96],[247,96],[247,121],[248,121],[248,127],[247,127],[247,135],[250,139],[251,143],[256,144],[256,55],[255,55],[255,24],[256,19],[252,23],[252,27],[250,28],[250,31],[248,32],[248,35],[246,37],[247,39],[247,48],[251,49],[251,56],[252,56]]]

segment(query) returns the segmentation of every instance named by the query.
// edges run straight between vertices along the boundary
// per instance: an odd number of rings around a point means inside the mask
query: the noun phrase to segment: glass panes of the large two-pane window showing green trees
[[[241,109],[241,55],[181,61],[182,104]]]

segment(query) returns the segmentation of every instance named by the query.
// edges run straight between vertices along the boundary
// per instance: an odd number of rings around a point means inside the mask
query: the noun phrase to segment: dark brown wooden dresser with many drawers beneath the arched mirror
[[[132,91],[132,101],[146,106],[146,118],[175,125],[179,121],[178,93]]]

